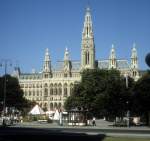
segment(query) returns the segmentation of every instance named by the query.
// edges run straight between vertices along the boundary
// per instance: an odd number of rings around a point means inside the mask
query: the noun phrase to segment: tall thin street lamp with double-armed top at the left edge
[[[4,99],[3,99],[3,115],[6,112],[6,74],[7,74],[7,66],[12,66],[12,63],[9,59],[3,59],[0,62],[0,67],[4,67],[5,74],[4,74]]]

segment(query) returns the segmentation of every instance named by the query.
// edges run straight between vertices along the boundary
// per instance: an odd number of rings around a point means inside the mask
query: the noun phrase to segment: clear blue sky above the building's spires
[[[135,42],[139,67],[148,69],[150,0],[0,0],[0,59],[11,59],[13,65],[17,61],[23,72],[40,71],[46,48],[54,65],[67,46],[71,59],[80,60],[88,3],[96,59],[107,59],[113,43],[117,58],[130,61]]]

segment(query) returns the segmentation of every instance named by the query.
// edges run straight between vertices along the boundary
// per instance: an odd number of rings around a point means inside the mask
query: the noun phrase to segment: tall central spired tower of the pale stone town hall
[[[95,68],[95,45],[92,28],[91,10],[86,8],[81,43],[81,69]]]

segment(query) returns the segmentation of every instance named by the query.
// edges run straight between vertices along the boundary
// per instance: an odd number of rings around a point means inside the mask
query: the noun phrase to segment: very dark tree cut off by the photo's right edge
[[[150,125],[150,71],[136,82],[132,107],[135,115],[143,116]]]

